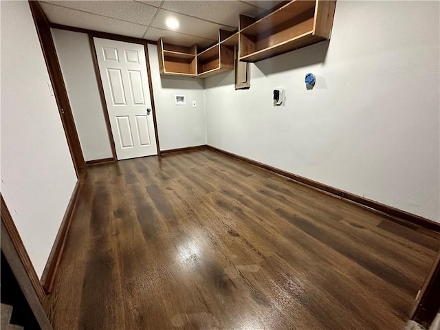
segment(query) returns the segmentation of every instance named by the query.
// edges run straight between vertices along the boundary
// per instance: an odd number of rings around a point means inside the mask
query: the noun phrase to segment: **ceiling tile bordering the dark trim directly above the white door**
[[[41,3],[41,6],[47,18],[52,23],[121,34],[122,36],[133,36],[136,38],[142,38],[146,31],[144,25],[119,21],[118,19],[109,19],[87,12],[79,12],[78,10],[59,7],[58,5],[50,5],[48,3]]]

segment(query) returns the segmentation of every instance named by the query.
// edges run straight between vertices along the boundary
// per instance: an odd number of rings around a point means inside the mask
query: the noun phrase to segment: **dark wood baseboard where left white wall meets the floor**
[[[74,214],[76,201],[78,200],[80,189],[81,183],[80,180],[78,180],[76,181],[74,191],[72,192],[72,197],[67,204],[63,221],[61,221],[60,229],[58,230],[58,234],[56,234],[54,245],[52,246],[52,250],[50,251],[49,258],[47,259],[43,275],[41,276],[41,284],[43,285],[46,294],[50,294],[50,292],[52,292],[55,275],[58,271],[58,266],[60,265],[61,256],[65,247],[67,234],[70,229],[70,224],[72,222],[72,217]]]

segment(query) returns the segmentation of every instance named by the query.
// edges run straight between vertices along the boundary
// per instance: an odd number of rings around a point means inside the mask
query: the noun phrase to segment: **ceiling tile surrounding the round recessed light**
[[[223,25],[210,23],[201,19],[196,19],[195,17],[189,17],[183,14],[178,14],[177,12],[170,12],[169,10],[163,9],[159,10],[159,13],[153,20],[153,23],[151,23],[151,26],[153,26],[153,28],[169,30],[165,24],[165,21],[168,19],[168,17],[174,17],[177,19],[177,21],[179,21],[180,27],[178,30],[176,30],[177,32],[190,34],[192,36],[199,36],[201,38],[218,39],[219,28],[231,30],[231,28]]]

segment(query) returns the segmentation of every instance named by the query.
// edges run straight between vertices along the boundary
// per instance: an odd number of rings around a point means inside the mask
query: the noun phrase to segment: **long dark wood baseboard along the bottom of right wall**
[[[336,195],[337,197],[340,197],[342,199],[347,199],[348,201],[352,201],[354,203],[359,204],[360,206],[364,206],[366,208],[371,208],[375,211],[384,213],[390,217],[393,217],[397,220],[404,220],[406,222],[419,225],[423,228],[434,230],[435,232],[440,232],[440,223],[434,222],[429,219],[425,219],[423,217],[420,217],[416,214],[412,214],[410,212],[406,212],[403,210],[399,210],[397,208],[393,208],[392,206],[387,206],[385,204],[379,203],[377,201],[373,201],[371,199],[367,199],[365,197],[361,197],[355,194],[352,194],[351,192],[347,192],[344,190],[340,190],[338,188],[333,188],[331,186],[327,186],[326,184],[321,184],[318,181],[314,181],[311,179],[307,179],[306,177],[301,177],[300,175],[295,175],[293,173],[289,173],[285,170],[281,170],[279,168],[275,168],[273,166],[269,166],[266,164],[263,164],[261,162],[256,162],[253,159],[249,159],[240,155],[236,155],[234,153],[230,153],[229,151],[224,151],[222,149],[216,148],[214,146],[207,145],[206,148],[212,151],[217,151],[218,153],[223,153],[224,155],[227,155],[229,157],[239,159],[243,162],[248,162],[250,164],[253,164],[255,166],[259,166],[260,168],[264,168],[265,170],[270,170],[271,172],[274,172],[279,175],[283,175],[284,177],[288,177],[289,179],[292,179],[294,181],[298,181],[302,184],[306,184],[307,186],[311,186],[313,188],[323,190],[325,192],[328,192],[331,195]]]

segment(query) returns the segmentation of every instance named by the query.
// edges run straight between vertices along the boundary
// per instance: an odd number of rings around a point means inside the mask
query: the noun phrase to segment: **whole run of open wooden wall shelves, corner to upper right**
[[[278,6],[279,7],[279,6]],[[219,30],[219,41],[197,52],[157,41],[161,74],[205,78],[234,69],[234,46],[243,62],[257,62],[330,38],[336,0],[293,0],[260,19],[239,15],[239,29]]]

